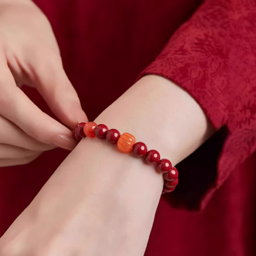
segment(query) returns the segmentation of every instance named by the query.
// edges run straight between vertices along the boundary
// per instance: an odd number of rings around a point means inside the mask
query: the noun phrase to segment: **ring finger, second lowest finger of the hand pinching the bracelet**
[[[7,144],[0,144],[0,160],[1,159],[21,159],[29,158],[40,154],[40,151],[32,151],[22,147],[15,147]]]

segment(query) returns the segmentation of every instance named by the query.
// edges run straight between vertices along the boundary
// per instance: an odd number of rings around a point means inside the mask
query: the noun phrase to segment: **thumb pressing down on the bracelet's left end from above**
[[[34,58],[30,63],[35,63]],[[70,127],[75,127],[79,122],[87,122],[78,95],[63,70],[59,55],[41,57],[30,69],[37,90],[59,120]]]

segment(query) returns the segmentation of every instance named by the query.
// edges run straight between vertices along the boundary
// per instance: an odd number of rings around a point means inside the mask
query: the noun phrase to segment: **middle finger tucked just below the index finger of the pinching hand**
[[[32,151],[46,151],[56,146],[47,145],[27,135],[17,125],[0,116],[0,143],[22,147]],[[0,154],[1,157],[1,154]]]

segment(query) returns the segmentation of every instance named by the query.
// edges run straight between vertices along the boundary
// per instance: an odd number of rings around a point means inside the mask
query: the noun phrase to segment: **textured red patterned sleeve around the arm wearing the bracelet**
[[[206,0],[141,76],[146,74],[163,76],[183,87],[216,129],[227,130],[224,144],[213,146],[212,141],[203,145],[208,155],[213,155],[209,164],[193,163],[194,168],[207,173],[208,185],[201,193],[182,192],[177,187],[173,195],[178,197],[181,193],[186,206],[194,200],[202,208],[231,171],[256,149],[255,2]],[[223,134],[216,136],[223,138]]]

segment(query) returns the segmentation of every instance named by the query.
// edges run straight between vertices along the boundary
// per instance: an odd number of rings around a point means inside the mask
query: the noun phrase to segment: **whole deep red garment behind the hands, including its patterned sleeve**
[[[254,0],[36,3],[53,25],[89,120],[144,70],[182,86],[219,130],[179,164],[179,186],[160,200],[145,255],[256,255]],[[50,113],[33,89],[24,90]],[[67,154],[56,149],[0,169],[0,236]]]

